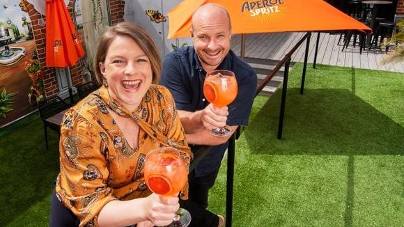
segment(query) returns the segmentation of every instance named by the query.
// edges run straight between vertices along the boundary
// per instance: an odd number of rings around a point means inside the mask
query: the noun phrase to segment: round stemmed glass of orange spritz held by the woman
[[[160,196],[178,196],[187,183],[187,166],[175,148],[164,147],[151,151],[146,156],[144,164],[146,185]],[[169,226],[186,227],[191,222],[191,215],[180,208]]]

